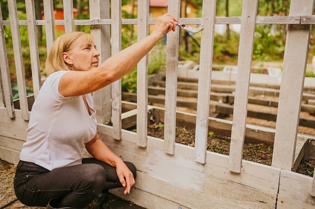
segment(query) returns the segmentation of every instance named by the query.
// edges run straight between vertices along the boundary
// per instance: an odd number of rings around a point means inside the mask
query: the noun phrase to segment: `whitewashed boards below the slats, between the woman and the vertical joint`
[[[176,154],[173,157],[163,152],[163,140],[148,137],[146,152],[142,152],[134,145],[135,133],[123,131],[124,140],[119,143],[118,147],[117,142],[107,135],[111,134],[111,127],[99,126],[98,128],[98,133],[106,139],[107,145],[124,160],[132,160],[140,173],[161,179],[161,183],[165,181],[169,185],[159,187],[157,186],[160,185],[159,183],[156,186],[151,186],[150,181],[153,181],[154,178],[147,181],[137,179],[136,181],[141,181],[143,187],[138,184],[135,186],[143,191],[155,193],[171,200],[179,198],[181,203],[188,204],[191,204],[191,201],[187,200],[187,195],[191,194],[195,197],[194,193],[197,192],[195,193],[196,196],[197,194],[206,194],[203,196],[204,201],[211,201],[214,198],[217,201],[223,200],[232,204],[247,206],[247,208],[270,208],[271,205],[275,205],[280,169],[245,161],[242,174],[231,175],[227,169],[227,156],[207,152],[209,156],[205,167],[194,162],[194,149],[191,147],[176,144]],[[177,193],[183,192],[179,196],[173,194],[172,188],[176,185],[179,186],[178,189],[175,189]],[[252,186],[257,188],[258,193],[252,193]],[[170,189],[172,191],[168,193],[166,190],[169,191]],[[187,192],[184,192],[186,189]],[[240,196],[235,194],[233,189],[240,191]],[[204,206],[200,202],[197,204]],[[262,205],[269,205],[269,207]],[[202,207],[192,206],[191,208]]]

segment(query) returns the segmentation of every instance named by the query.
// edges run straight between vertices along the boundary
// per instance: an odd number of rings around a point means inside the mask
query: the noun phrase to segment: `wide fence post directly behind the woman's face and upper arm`
[[[90,1],[90,18],[93,20],[110,18],[109,0]],[[100,63],[110,57],[110,25],[91,25],[91,35],[100,52]],[[93,93],[94,108],[98,123],[108,124],[112,117],[111,85]]]

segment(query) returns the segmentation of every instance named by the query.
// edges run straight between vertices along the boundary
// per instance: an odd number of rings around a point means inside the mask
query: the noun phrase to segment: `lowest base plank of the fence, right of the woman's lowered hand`
[[[181,206],[182,208],[246,208],[241,205],[237,205],[233,202],[225,201],[222,199],[218,199],[211,195],[196,192],[189,188],[183,188],[177,184],[170,184],[168,181],[164,181],[163,179],[152,177],[145,173],[140,173],[137,175],[136,186],[140,191],[148,192],[150,198],[143,198],[143,192],[140,193],[140,196],[137,193],[133,193],[134,190],[131,190],[131,197],[137,204],[142,206],[146,206],[147,208],[178,208]],[[156,193],[154,190],[159,190],[161,192]],[[115,192],[116,195],[124,197],[123,190],[111,190],[111,192]],[[160,201],[156,201],[156,200]],[[152,202],[153,200],[153,202]],[[155,200],[155,201],[154,201]],[[153,204],[152,204],[153,203]],[[258,207],[251,207],[258,208]],[[261,207],[262,208],[262,207]]]

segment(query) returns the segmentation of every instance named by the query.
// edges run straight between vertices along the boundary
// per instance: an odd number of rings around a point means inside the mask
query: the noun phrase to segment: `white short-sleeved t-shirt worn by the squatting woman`
[[[82,96],[59,93],[57,71],[48,76],[33,104],[27,140],[20,159],[48,170],[82,163],[85,143],[96,135],[96,115],[91,93],[86,94],[89,115]]]

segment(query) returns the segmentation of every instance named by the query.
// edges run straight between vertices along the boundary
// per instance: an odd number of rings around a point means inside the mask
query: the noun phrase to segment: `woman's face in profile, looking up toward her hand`
[[[63,60],[71,66],[72,70],[88,71],[99,66],[100,53],[96,50],[94,42],[83,44],[79,37],[73,42],[68,52],[63,52]]]

